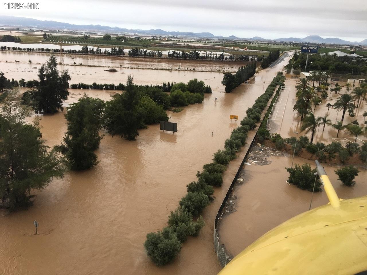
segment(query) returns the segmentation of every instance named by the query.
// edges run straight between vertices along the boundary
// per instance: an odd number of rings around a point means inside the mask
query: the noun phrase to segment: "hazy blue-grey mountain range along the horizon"
[[[265,39],[262,37],[252,37],[252,38],[240,38],[234,35],[229,37],[215,36],[212,33],[194,33],[194,32],[167,32],[162,29],[150,29],[150,30],[140,30],[140,29],[126,29],[120,27],[109,27],[101,25],[74,25],[69,23],[62,23],[56,21],[41,21],[32,18],[25,17],[14,17],[7,15],[0,15],[0,26],[17,26],[17,27],[31,27],[35,29],[52,29],[52,30],[79,30],[79,31],[97,31],[102,33],[131,33],[131,34],[150,34],[150,35],[171,35],[171,36],[188,36],[188,37],[203,37],[203,38],[222,38],[230,40],[259,40],[259,41],[284,41],[284,42],[299,42],[299,43],[316,43],[316,44],[355,44],[355,45],[367,45],[367,39],[360,42],[346,41],[340,38],[322,38],[318,35],[310,35],[304,38],[297,37],[287,37],[287,38],[277,38],[277,39]]]

